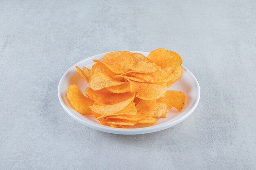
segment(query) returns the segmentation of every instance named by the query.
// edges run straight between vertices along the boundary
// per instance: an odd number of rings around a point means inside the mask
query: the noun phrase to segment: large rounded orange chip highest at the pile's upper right
[[[155,64],[157,64],[157,66],[160,66],[161,68],[175,68],[176,66],[182,64],[182,58],[179,54],[162,48],[151,51],[147,59],[154,62]]]

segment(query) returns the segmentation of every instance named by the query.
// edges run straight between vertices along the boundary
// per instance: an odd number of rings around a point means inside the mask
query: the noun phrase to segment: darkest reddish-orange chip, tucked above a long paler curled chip
[[[85,94],[98,105],[110,105],[123,102],[132,97],[132,93],[111,93],[106,89],[101,89],[99,91],[94,91],[92,88],[88,87],[85,89]]]

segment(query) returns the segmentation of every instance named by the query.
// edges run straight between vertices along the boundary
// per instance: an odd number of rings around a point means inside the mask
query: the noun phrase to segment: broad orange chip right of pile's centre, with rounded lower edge
[[[137,93],[136,97],[143,100],[159,99],[170,86],[161,86],[158,84],[139,83],[132,80],[130,82],[130,91]]]

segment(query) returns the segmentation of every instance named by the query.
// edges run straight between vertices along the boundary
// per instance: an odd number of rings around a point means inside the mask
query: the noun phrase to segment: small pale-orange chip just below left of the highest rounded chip
[[[135,62],[135,64],[130,69],[140,73],[153,73],[157,71],[157,68],[155,68],[152,63],[144,61],[138,63]]]

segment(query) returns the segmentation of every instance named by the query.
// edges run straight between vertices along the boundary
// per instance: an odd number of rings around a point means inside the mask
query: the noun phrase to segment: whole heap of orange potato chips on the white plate
[[[101,124],[128,128],[155,124],[167,110],[182,110],[186,95],[167,89],[182,76],[182,58],[166,49],[141,53],[115,51],[93,60],[92,70],[76,66],[89,83],[85,95],[77,85],[67,89],[67,99],[83,115],[93,115]]]

